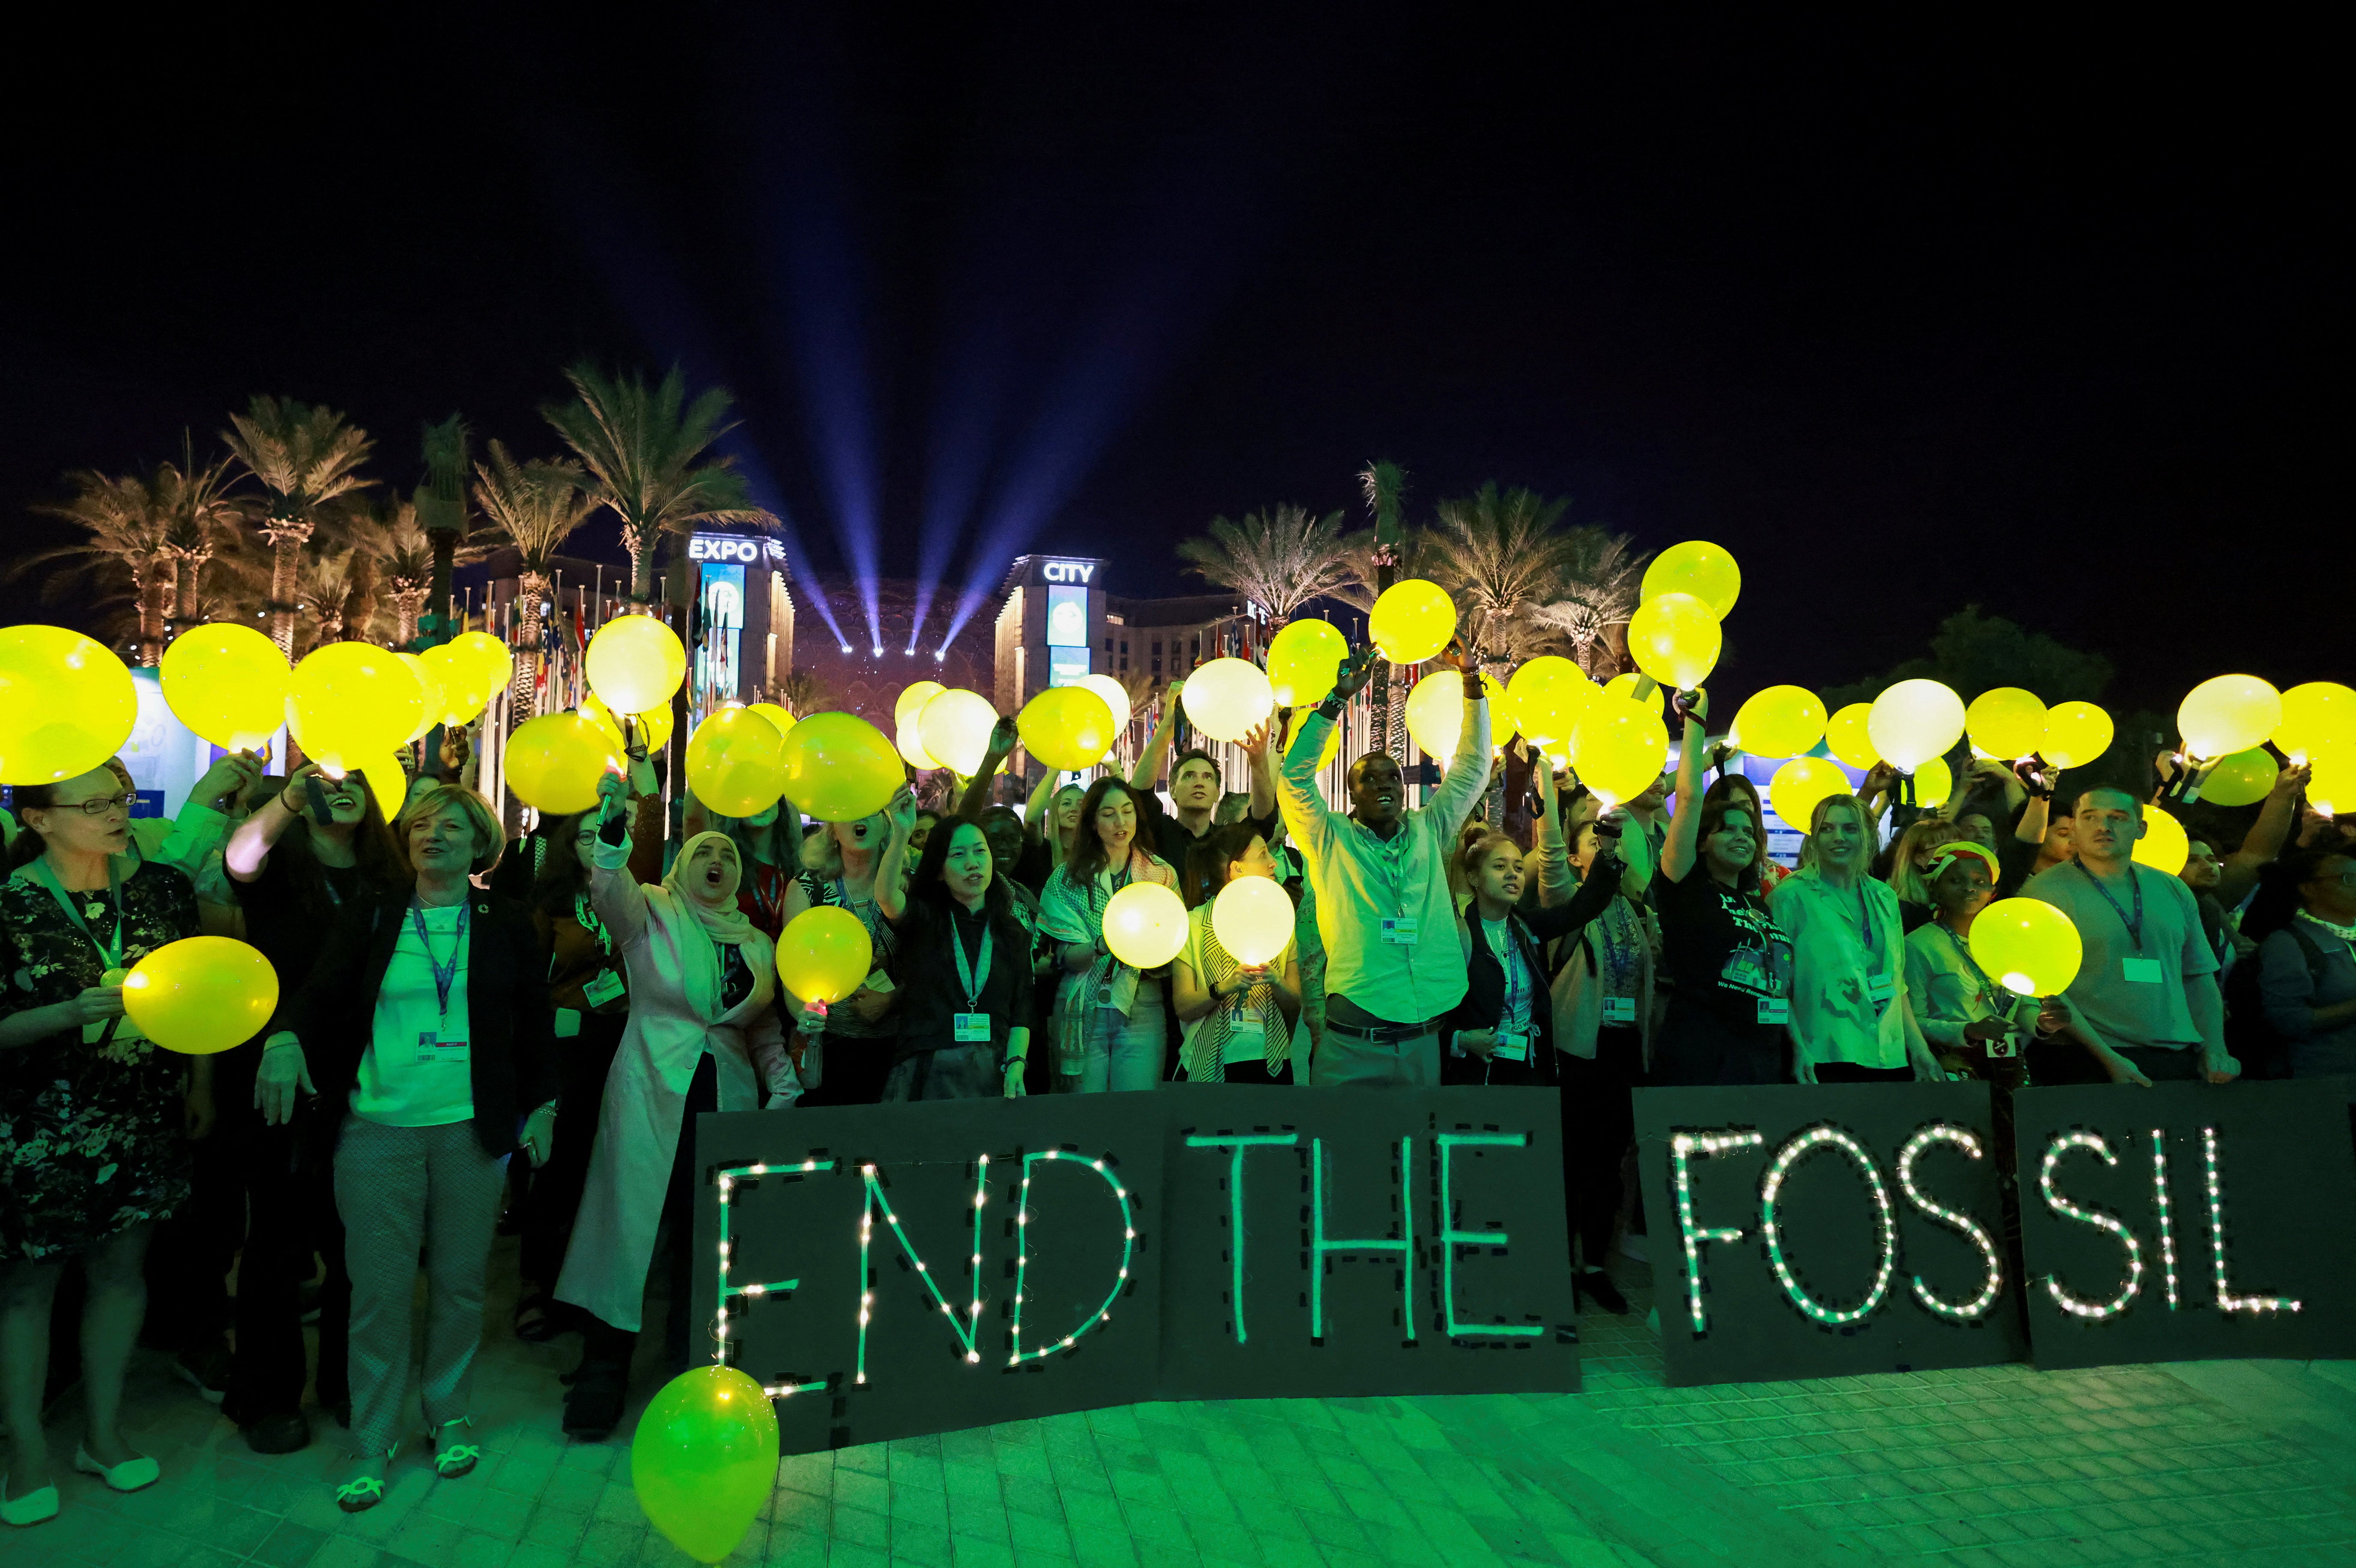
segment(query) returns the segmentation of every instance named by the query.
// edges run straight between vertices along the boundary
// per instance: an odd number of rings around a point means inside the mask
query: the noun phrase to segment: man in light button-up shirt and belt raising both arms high
[[[1440,1083],[1440,1022],[1465,996],[1447,862],[1489,789],[1489,702],[1465,683],[1465,718],[1430,805],[1407,810],[1399,763],[1369,751],[1350,765],[1350,815],[1326,805],[1317,758],[1343,706],[1374,676],[1374,647],[1341,666],[1333,695],[1301,723],[1284,753],[1284,829],[1308,862],[1326,951],[1324,1038],[1310,1083],[1428,1088]],[[1480,655],[1451,645],[1449,669]]]

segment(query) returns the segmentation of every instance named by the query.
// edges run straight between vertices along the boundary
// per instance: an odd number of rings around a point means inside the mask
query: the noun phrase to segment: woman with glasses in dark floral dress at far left
[[[82,1264],[82,1401],[73,1467],[118,1493],[160,1474],[123,1441],[123,1368],[146,1316],[155,1222],[188,1196],[186,1132],[212,1121],[210,1076],[123,1015],[123,972],[198,935],[186,873],[130,857],[130,793],[106,768],[19,784],[21,831],[0,885],[0,1396],[12,1453],[0,1521],[52,1519],[40,1427],[49,1304]],[[203,1064],[203,1057],[196,1057]],[[193,1092],[191,1092],[193,1090]]]

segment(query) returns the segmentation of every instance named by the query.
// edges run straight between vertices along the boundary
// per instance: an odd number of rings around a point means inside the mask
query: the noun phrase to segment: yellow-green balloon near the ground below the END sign
[[[733,1366],[688,1368],[638,1417],[629,1483],[674,1547],[726,1561],[777,1488],[777,1408]]]

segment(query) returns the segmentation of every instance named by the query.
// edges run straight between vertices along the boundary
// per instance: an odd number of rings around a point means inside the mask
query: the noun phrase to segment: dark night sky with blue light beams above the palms
[[[1595,9],[101,19],[12,160],[0,516],[257,391],[408,487],[422,419],[540,452],[563,363],[681,360],[813,565],[931,530],[945,600],[1023,546],[1183,591],[1392,457],[1729,546],[1734,687],[1967,600],[2113,706],[2356,676],[2323,38]]]

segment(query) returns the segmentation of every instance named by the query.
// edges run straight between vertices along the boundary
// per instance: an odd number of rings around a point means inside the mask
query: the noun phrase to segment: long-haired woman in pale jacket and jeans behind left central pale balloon
[[[1105,942],[1105,906],[1131,883],[1178,888],[1154,855],[1140,789],[1105,775],[1079,805],[1079,838],[1039,895],[1039,930],[1063,956],[1055,1071],[1079,1092],[1147,1090],[1162,1083],[1169,1022],[1162,982]]]

